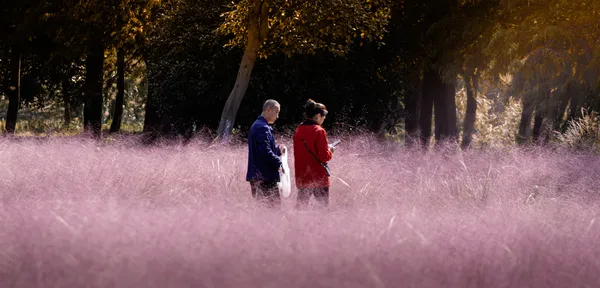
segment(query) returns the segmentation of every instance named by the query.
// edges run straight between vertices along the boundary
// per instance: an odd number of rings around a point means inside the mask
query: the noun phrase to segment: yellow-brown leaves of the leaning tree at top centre
[[[243,47],[249,7],[256,0],[231,4],[219,32],[233,35],[230,46]],[[268,1],[268,32],[259,54],[345,55],[355,41],[380,41],[390,18],[391,0]]]

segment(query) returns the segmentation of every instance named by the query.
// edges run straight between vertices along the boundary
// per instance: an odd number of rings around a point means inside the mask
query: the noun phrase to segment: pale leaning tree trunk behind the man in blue
[[[244,49],[244,55],[242,56],[235,85],[227,98],[217,130],[218,136],[221,137],[223,141],[228,141],[229,135],[231,135],[237,111],[246,94],[246,90],[248,89],[252,69],[254,68],[256,58],[258,57],[258,49],[268,32],[268,28],[266,28],[266,24],[268,24],[268,15],[269,8],[267,1],[252,0],[251,9],[248,13],[248,39],[246,48]]]

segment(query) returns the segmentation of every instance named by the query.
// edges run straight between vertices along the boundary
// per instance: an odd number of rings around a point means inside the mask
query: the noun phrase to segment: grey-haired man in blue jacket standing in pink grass
[[[281,153],[285,153],[285,146],[277,146],[273,137],[273,128],[270,125],[279,118],[281,106],[275,100],[269,99],[263,105],[262,113],[248,133],[248,173],[246,181],[250,182],[252,196],[266,202],[270,207],[281,206],[279,188],[277,183],[281,167]],[[289,173],[284,171],[284,173]]]

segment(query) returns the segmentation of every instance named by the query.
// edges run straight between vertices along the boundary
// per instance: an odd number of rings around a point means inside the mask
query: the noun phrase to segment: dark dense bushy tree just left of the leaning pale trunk
[[[172,0],[152,13],[151,25],[144,27],[138,41],[148,79],[145,141],[159,136],[191,137],[196,118],[208,124],[205,117],[218,117],[213,110],[221,105],[216,97],[221,89],[213,87],[229,81],[231,58],[239,57],[223,49],[227,39],[216,33],[226,3]],[[205,93],[210,96],[203,97]]]

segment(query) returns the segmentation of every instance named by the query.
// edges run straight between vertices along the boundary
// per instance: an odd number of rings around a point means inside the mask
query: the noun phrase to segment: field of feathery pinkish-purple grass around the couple
[[[330,208],[299,212],[295,189],[281,211],[252,201],[245,149],[0,143],[0,287],[600,283],[598,157],[356,138]]]

